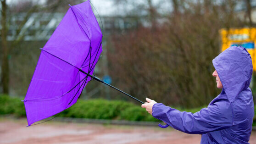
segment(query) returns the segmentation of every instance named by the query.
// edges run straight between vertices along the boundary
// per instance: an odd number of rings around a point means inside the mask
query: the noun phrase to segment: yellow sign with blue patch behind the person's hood
[[[230,46],[242,46],[250,53],[253,71],[256,71],[256,28],[221,29],[222,51]]]

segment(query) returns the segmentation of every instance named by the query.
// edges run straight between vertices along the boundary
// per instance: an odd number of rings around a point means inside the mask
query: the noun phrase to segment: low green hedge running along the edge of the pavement
[[[195,109],[179,109],[195,113],[200,111]],[[256,106],[255,113],[256,113]],[[21,98],[10,97],[0,94],[0,115],[14,114],[17,117],[26,116],[24,104]],[[158,122],[156,118],[148,114],[140,105],[134,105],[129,102],[119,100],[78,100],[78,102],[56,116],[76,117],[90,119],[110,119],[110,120],[127,120],[127,121],[151,121]],[[254,117],[253,126],[256,126],[256,116]]]

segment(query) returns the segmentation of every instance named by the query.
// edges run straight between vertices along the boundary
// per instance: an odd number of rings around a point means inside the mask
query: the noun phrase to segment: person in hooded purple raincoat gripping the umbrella
[[[224,50],[213,61],[217,88],[222,92],[196,113],[146,99],[141,105],[155,118],[190,134],[201,134],[201,144],[248,144],[254,116],[249,88],[252,75],[250,54],[241,46]]]

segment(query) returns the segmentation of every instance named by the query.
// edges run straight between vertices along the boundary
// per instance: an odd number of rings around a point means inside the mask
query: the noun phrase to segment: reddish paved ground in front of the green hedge
[[[200,144],[200,135],[172,128],[26,121],[0,118],[0,144]],[[250,137],[256,144],[256,132]]]

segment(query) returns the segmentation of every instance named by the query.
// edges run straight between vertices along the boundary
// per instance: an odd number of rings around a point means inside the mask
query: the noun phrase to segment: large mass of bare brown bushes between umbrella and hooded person
[[[155,31],[140,27],[113,37],[110,74],[140,99],[148,96],[169,105],[198,107],[219,93],[211,62],[220,51],[219,29],[245,23],[234,15],[234,0],[172,2],[172,16],[156,23]]]

